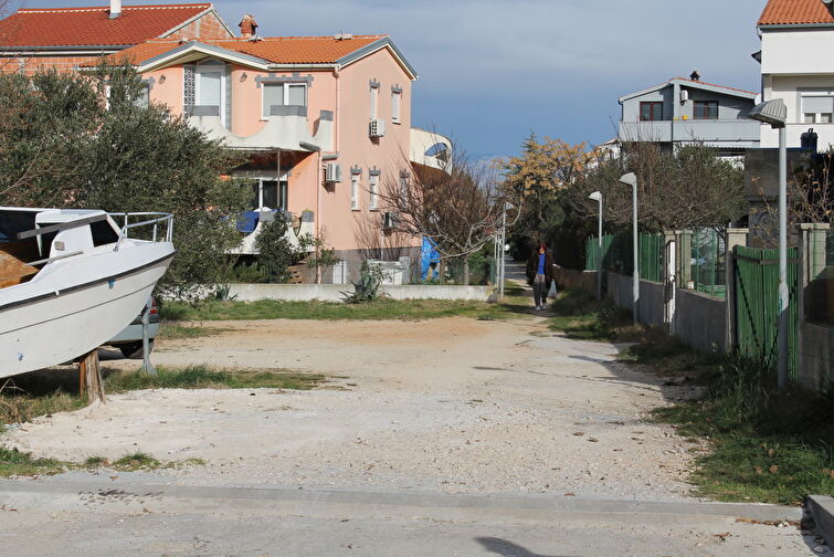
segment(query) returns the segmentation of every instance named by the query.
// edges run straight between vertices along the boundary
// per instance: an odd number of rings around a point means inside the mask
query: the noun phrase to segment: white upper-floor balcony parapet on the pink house
[[[251,136],[232,134],[221,120],[219,106],[194,106],[190,126],[226,147],[245,150],[332,150],[331,111],[321,111],[315,134],[310,133],[306,106],[273,106],[264,127]]]

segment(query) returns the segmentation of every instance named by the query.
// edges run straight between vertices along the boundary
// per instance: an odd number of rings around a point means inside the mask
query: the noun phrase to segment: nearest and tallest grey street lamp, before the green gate
[[[779,389],[788,387],[788,107],[781,98],[753,107],[749,118],[779,129]]]

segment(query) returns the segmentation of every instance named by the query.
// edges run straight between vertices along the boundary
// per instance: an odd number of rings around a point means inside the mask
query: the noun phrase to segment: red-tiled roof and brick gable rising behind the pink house
[[[150,39],[231,39],[211,3],[29,8],[0,20],[0,71],[71,72]]]

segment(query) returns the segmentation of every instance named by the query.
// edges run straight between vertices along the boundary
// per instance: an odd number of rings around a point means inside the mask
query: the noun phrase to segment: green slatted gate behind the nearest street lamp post
[[[779,332],[779,250],[735,248],[736,341],[742,356],[775,369]],[[788,374],[796,379],[799,249],[788,249]]]

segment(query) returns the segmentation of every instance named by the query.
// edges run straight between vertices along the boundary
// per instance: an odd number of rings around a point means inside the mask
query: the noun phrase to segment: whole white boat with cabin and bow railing
[[[130,238],[137,228],[147,240]],[[119,333],[173,259],[172,233],[168,213],[0,207],[0,378]]]

